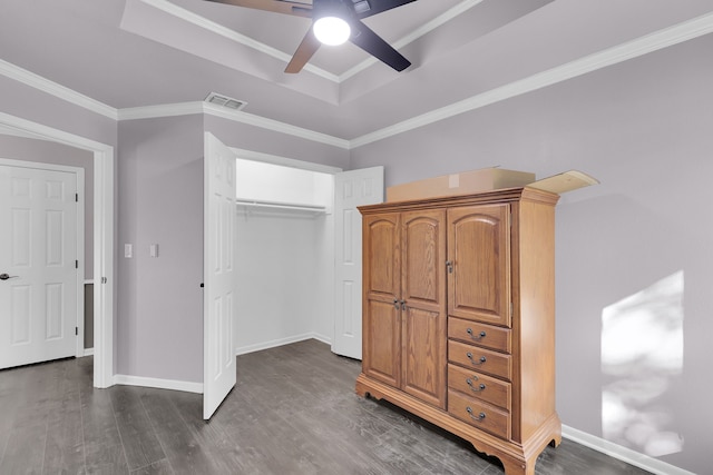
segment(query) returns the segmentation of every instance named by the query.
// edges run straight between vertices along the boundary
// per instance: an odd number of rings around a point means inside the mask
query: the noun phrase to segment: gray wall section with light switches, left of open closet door
[[[117,167],[116,373],[202,383],[203,117],[119,122]]]

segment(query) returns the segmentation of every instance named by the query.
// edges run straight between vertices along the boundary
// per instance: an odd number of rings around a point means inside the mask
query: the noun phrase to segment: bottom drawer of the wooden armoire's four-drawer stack
[[[473,427],[510,438],[510,414],[482,400],[448,390],[448,413]]]

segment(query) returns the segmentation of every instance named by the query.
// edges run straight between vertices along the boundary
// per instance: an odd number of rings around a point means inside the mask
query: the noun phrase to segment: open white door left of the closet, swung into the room
[[[235,386],[235,155],[205,133],[203,418]]]

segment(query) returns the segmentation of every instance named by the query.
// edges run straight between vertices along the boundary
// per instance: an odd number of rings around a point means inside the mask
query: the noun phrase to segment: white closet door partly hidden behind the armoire
[[[383,201],[383,167],[334,176],[334,339],[332,352],[361,359],[361,214]]]

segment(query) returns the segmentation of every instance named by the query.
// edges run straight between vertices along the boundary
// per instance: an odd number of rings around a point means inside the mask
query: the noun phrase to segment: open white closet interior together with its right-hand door
[[[382,201],[383,168],[299,165],[236,161],[236,353],[318,338],[360,358],[356,206]]]

